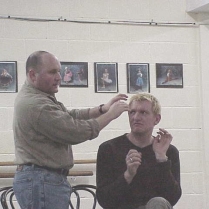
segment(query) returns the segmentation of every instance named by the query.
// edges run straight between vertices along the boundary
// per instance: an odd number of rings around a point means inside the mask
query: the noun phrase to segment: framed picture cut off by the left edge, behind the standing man
[[[17,92],[17,62],[0,62],[0,92]]]

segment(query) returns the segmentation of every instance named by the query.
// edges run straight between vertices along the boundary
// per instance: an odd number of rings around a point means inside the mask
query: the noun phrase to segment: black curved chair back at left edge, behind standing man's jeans
[[[0,188],[0,192],[1,192],[2,208],[3,209],[9,209],[9,208],[15,209],[15,207],[13,205],[13,202],[12,202],[13,201],[13,196],[14,196],[13,188],[11,186],[3,187],[3,188]],[[7,204],[7,197],[9,197],[10,207],[8,207],[8,204]]]

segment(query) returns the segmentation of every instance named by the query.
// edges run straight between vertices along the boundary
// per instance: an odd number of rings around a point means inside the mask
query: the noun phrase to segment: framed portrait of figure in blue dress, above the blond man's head
[[[127,63],[127,92],[150,92],[148,63]]]

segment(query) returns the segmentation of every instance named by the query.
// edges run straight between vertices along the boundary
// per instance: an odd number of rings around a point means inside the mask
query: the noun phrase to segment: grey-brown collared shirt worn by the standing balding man
[[[96,138],[99,124],[89,119],[89,108],[67,110],[26,81],[15,100],[13,131],[17,164],[70,169],[71,145]]]

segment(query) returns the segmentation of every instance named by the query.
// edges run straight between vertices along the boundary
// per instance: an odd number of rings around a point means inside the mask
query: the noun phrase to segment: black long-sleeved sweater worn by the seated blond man
[[[142,164],[130,185],[124,178],[130,149],[142,153]],[[179,151],[173,145],[168,161],[157,163],[152,145],[139,148],[126,134],[100,145],[97,155],[97,199],[105,209],[132,209],[153,197],[164,197],[173,206],[181,197]]]

